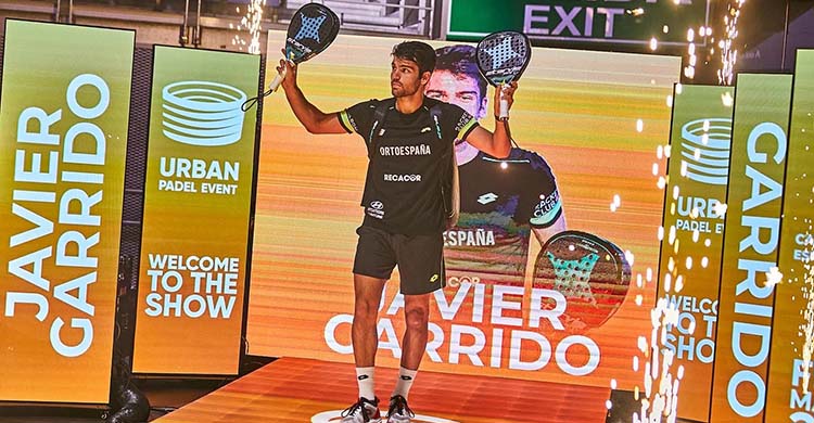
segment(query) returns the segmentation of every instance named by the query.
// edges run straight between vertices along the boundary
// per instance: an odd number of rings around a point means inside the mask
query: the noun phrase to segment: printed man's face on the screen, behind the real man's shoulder
[[[455,104],[479,120],[486,116],[486,99],[481,98],[478,80],[466,74],[434,72],[427,85],[427,97]]]

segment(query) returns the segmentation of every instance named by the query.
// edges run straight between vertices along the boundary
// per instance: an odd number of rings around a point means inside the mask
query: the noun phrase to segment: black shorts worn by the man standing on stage
[[[403,235],[361,226],[356,230],[354,273],[390,279],[398,266],[402,294],[427,294],[444,287],[444,239],[431,235]]]

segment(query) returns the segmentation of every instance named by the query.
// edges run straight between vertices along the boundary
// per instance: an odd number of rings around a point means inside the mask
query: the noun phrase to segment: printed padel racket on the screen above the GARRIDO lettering
[[[631,265],[612,242],[563,231],[537,256],[534,287],[554,290],[568,300],[563,313],[572,331],[598,328],[616,312],[631,284]]]

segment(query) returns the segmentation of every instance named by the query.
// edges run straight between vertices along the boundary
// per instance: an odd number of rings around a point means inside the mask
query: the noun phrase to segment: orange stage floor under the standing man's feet
[[[354,401],[354,375],[352,364],[282,358],[156,422],[334,423]],[[380,398],[395,377],[377,369]],[[609,396],[609,388],[420,372],[410,407],[415,423],[605,422]]]

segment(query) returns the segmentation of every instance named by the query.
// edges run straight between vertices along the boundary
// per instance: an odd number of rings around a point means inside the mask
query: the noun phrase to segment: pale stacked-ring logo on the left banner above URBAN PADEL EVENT
[[[173,141],[217,146],[240,141],[245,92],[226,84],[188,80],[162,90],[162,130]]]

